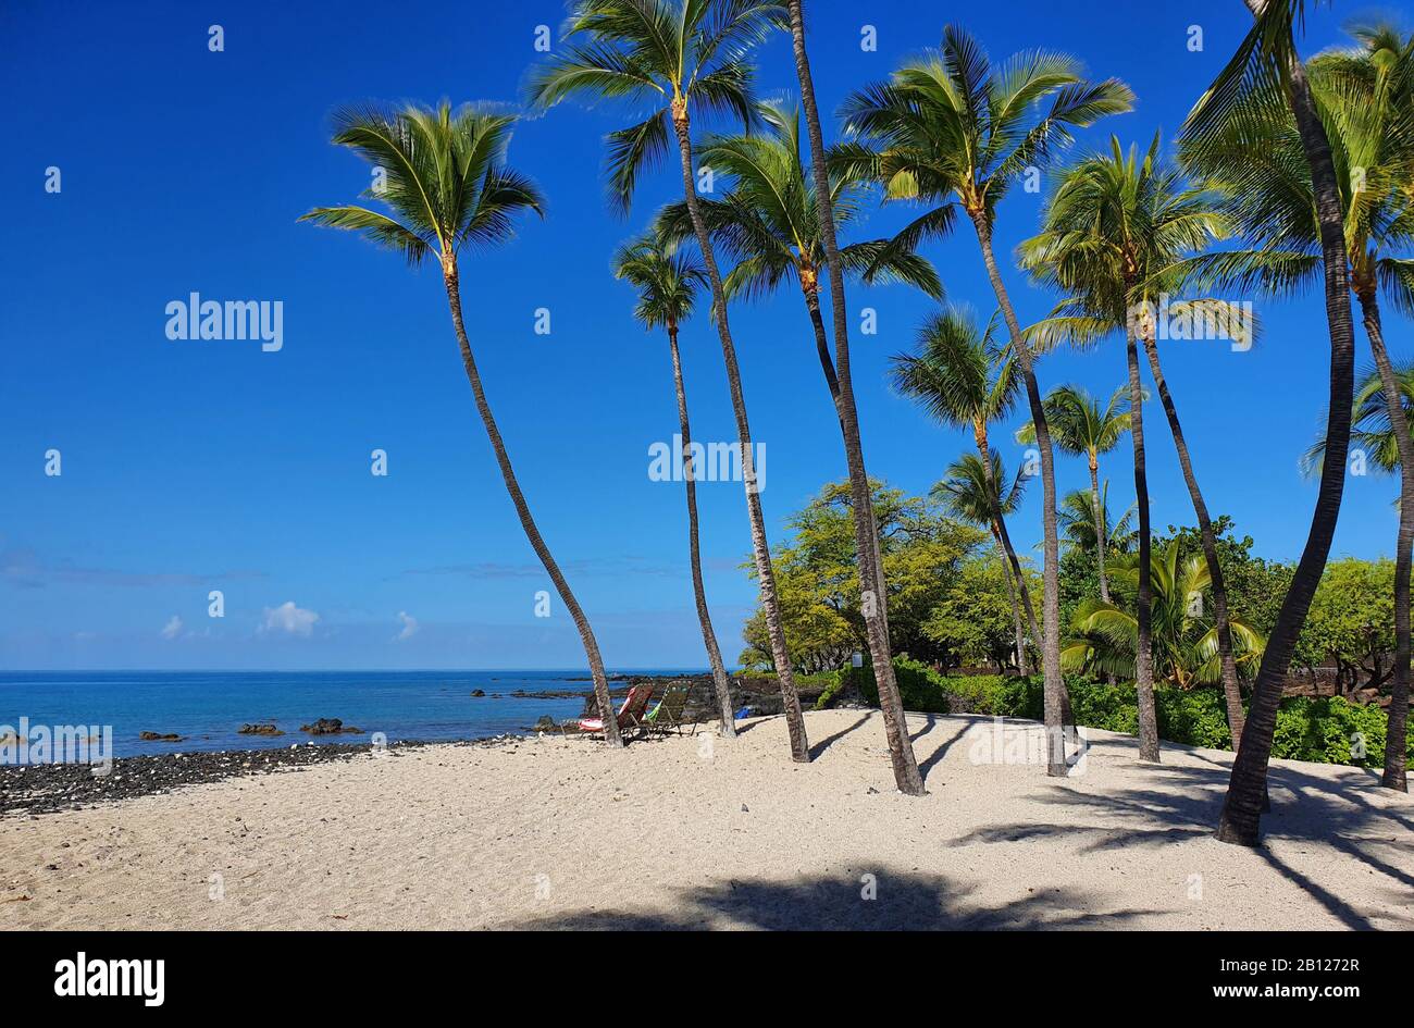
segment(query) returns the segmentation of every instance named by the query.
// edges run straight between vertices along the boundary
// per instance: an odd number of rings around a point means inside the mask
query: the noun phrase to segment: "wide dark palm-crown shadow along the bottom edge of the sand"
[[[513,925],[515,929],[693,930],[748,928],[769,930],[922,930],[1120,928],[1150,911],[1109,911],[1099,892],[1048,889],[1001,909],[970,899],[970,889],[943,875],[881,868],[875,896],[864,898],[860,878],[778,882],[728,880],[679,894],[686,909],[573,911]]]

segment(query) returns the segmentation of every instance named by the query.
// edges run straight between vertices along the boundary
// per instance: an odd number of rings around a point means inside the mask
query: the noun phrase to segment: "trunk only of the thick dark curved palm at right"
[[[1247,7],[1260,13],[1266,0],[1247,0]],[[1227,785],[1217,839],[1239,846],[1257,846],[1261,839],[1261,810],[1267,796],[1267,762],[1271,758],[1271,737],[1277,728],[1277,706],[1281,703],[1287,672],[1297,635],[1307,621],[1311,598],[1321,584],[1331,540],[1340,516],[1340,496],[1345,492],[1345,461],[1350,451],[1350,395],[1355,390],[1355,325],[1350,320],[1350,274],[1345,245],[1345,209],[1336,184],[1331,141],[1316,112],[1307,82],[1305,68],[1292,55],[1284,69],[1287,102],[1295,116],[1297,132],[1311,164],[1311,185],[1321,225],[1321,257],[1325,266],[1326,322],[1331,328],[1331,393],[1328,397],[1325,458],[1321,462],[1321,488],[1316,509],[1311,516],[1311,532],[1291,585],[1277,614],[1277,624],[1267,636],[1261,667],[1251,690],[1247,724],[1241,745],[1233,761],[1233,775]]]

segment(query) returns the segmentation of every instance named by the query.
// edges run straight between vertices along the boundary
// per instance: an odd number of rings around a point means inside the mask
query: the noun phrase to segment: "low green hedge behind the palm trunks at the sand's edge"
[[[905,710],[925,714],[990,714],[1029,721],[1045,720],[1045,689],[1039,674],[945,676],[908,658],[894,659]],[[878,689],[871,667],[846,667],[831,689],[822,693],[817,710],[829,707],[850,683],[865,703],[878,706]],[[1138,703],[1133,686],[1107,686],[1073,676],[1066,679],[1075,721],[1087,728],[1134,735],[1138,732]],[[1227,706],[1216,689],[1154,689],[1154,707],[1161,740],[1185,745],[1230,749]],[[1384,711],[1342,697],[1288,697],[1277,711],[1271,755],[1316,764],[1384,766]],[[1363,755],[1359,749],[1363,742]],[[1414,737],[1410,738],[1408,766],[1414,768]]]

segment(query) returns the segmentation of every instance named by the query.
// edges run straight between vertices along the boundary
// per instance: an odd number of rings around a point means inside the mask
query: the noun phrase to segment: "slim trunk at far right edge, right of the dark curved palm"
[[[1384,734],[1384,773],[1380,785],[1386,789],[1408,792],[1406,765],[1408,764],[1407,725],[1410,713],[1410,550],[1414,546],[1414,440],[1410,438],[1408,417],[1398,378],[1384,349],[1384,329],[1380,327],[1380,305],[1376,283],[1360,283],[1360,314],[1370,337],[1370,352],[1384,387],[1384,406],[1390,411],[1390,428],[1400,451],[1400,529],[1394,547],[1394,669],[1390,683],[1389,728]]]

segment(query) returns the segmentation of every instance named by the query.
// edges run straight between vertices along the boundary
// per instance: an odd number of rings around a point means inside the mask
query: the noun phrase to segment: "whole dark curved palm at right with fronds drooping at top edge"
[[[1247,724],[1233,759],[1233,773],[1217,824],[1217,839],[1257,846],[1261,810],[1267,798],[1267,762],[1277,728],[1277,706],[1291,667],[1297,635],[1335,537],[1345,492],[1345,461],[1350,447],[1350,393],[1355,387],[1355,325],[1350,318],[1350,273],[1345,243],[1340,184],[1331,156],[1331,141],[1316,110],[1305,68],[1297,54],[1294,23],[1305,14],[1305,0],[1244,0],[1254,24],[1241,45],[1189,113],[1185,136],[1189,153],[1200,157],[1240,122],[1233,117],[1243,98],[1260,98],[1268,110],[1291,109],[1301,150],[1311,168],[1312,198],[1321,226],[1321,262],[1325,269],[1326,322],[1331,329],[1331,392],[1328,399],[1326,454],[1321,488],[1311,518],[1305,549],[1291,576],[1291,585],[1263,650],[1253,686]],[[1256,140],[1254,140],[1256,141]],[[1253,151],[1256,153],[1256,150]]]

